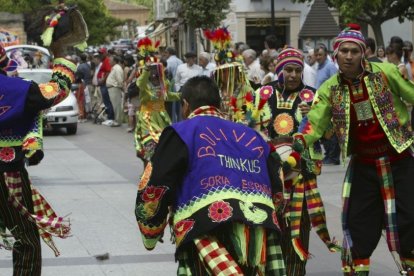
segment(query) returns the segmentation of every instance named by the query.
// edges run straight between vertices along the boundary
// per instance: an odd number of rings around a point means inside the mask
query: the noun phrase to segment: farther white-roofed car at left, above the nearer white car
[[[13,45],[5,47],[10,59],[17,62],[17,69],[40,68],[52,66],[52,56],[48,49],[36,45]]]

